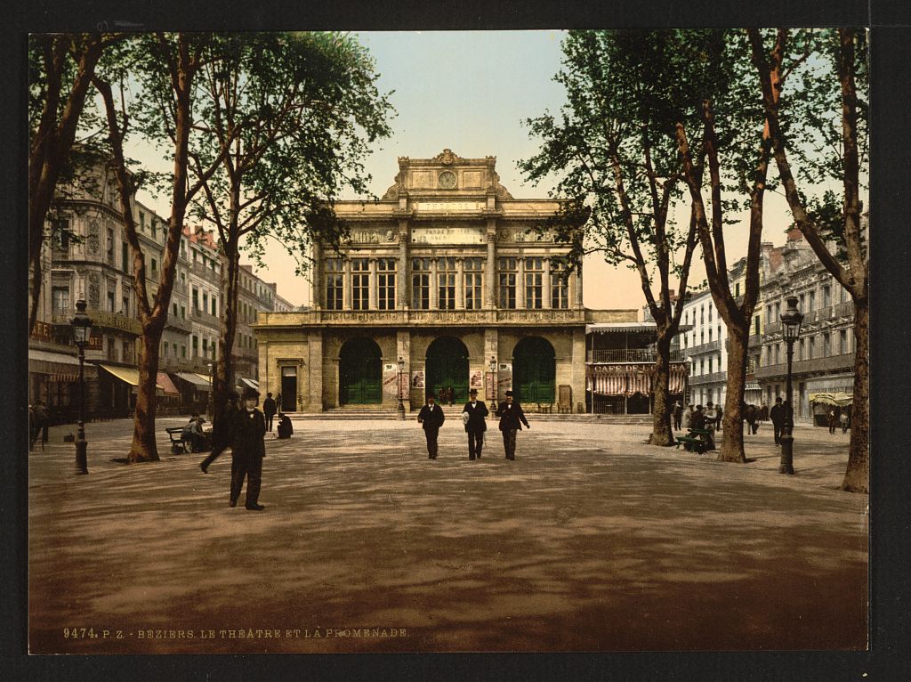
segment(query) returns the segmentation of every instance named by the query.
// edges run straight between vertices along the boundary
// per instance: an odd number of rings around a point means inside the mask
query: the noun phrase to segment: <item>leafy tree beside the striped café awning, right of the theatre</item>
[[[548,228],[572,245],[571,268],[588,253],[640,276],[657,328],[651,442],[670,445],[670,341],[680,326],[696,222],[673,220],[682,168],[673,126],[707,74],[691,68],[688,41],[705,32],[573,31],[555,77],[567,92],[559,116],[528,119],[540,151],[519,167],[527,179],[558,178],[563,208]],[[691,122],[698,118],[691,114]],[[580,227],[581,226],[581,227]],[[671,278],[678,280],[676,295]]]

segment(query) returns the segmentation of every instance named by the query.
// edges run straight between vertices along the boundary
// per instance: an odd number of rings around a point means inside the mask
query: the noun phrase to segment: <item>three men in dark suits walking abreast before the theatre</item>
[[[468,436],[468,459],[480,460],[481,453],[484,450],[484,434],[487,430],[486,417],[490,414],[483,400],[477,399],[477,389],[472,388],[468,392],[468,402],[462,409],[462,423],[465,426]],[[500,403],[496,408],[494,416],[499,418],[499,429],[503,435],[503,449],[506,453],[507,460],[516,459],[516,434],[522,430],[524,424],[526,429],[531,429],[522,406],[515,401],[512,391],[507,391],[506,400]],[[427,394],[427,404],[421,408],[417,415],[417,421],[424,429],[425,438],[427,439],[427,456],[435,460],[439,452],[437,438],[440,427],[443,426],[445,415],[443,408],[435,404],[434,394]]]

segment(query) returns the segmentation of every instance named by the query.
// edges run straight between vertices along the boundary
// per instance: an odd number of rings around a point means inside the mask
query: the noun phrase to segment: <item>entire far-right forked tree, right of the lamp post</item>
[[[851,294],[855,311],[855,381],[851,443],[842,489],[869,491],[869,259],[862,218],[869,160],[866,33],[749,30],[773,155],[794,222],[825,269]],[[772,38],[773,47],[768,45]],[[775,65],[793,42],[816,39],[814,68],[782,91]],[[798,57],[800,59],[801,57]],[[832,188],[841,185],[841,196]]]

